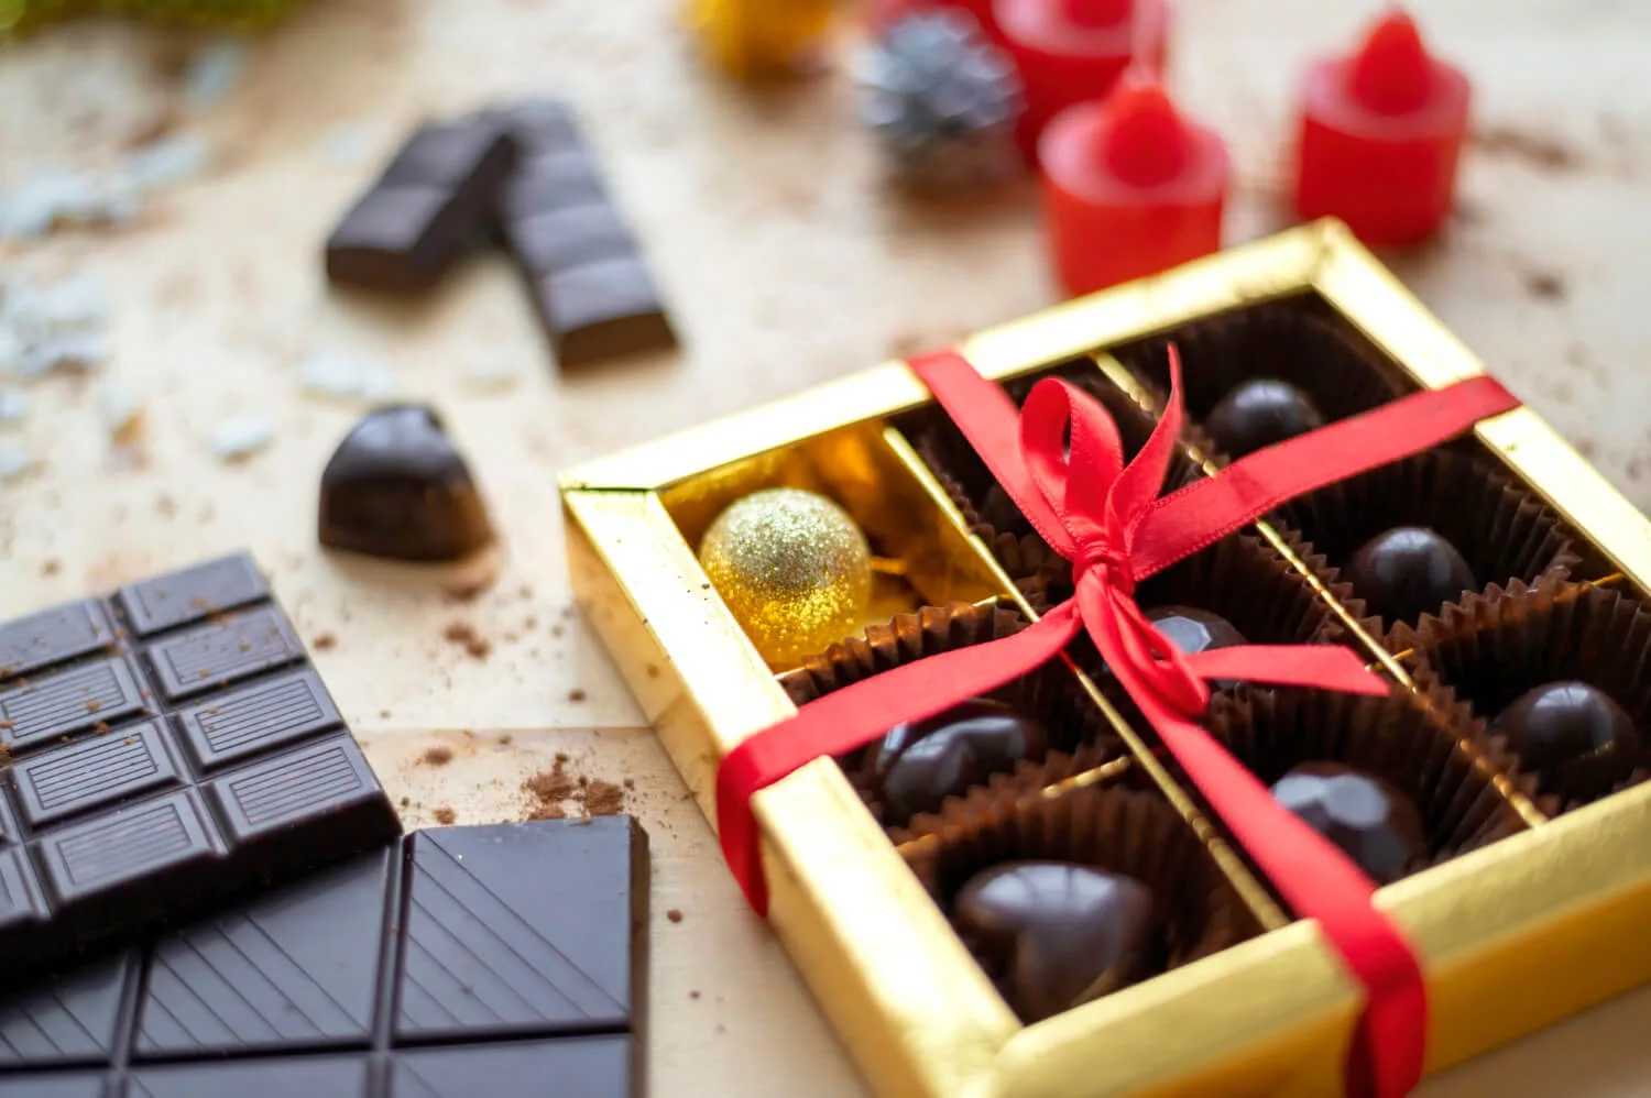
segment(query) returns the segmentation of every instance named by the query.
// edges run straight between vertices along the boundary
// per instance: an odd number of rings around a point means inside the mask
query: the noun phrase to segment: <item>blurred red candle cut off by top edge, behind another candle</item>
[[[1103,99],[1136,51],[1164,71],[1166,0],[996,0],[997,36],[1025,84],[1020,147],[1030,159],[1050,119]]]

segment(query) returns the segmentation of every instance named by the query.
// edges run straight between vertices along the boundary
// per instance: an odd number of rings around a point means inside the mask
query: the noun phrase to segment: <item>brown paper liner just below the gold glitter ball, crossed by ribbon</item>
[[[865,637],[834,644],[821,655],[806,659],[801,669],[783,675],[781,684],[796,705],[807,705],[878,672],[938,652],[987,644],[1024,627],[1025,619],[1012,611],[981,609],[967,603],[928,606],[915,614],[898,614],[888,624],[872,626],[865,631]],[[986,697],[1043,725],[1050,751],[1060,753],[1062,760],[1076,755],[1088,768],[1128,753],[1106,717],[1062,662],[1045,664]],[[1019,781],[1020,774],[1037,771],[1043,761],[1043,758],[1025,760],[1004,778]],[[880,824],[908,824],[903,819],[887,819],[868,746],[842,756],[839,764]]]

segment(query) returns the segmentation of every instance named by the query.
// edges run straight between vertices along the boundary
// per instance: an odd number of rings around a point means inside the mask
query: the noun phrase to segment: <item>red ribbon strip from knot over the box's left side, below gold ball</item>
[[[768,883],[751,812],[758,791],[821,756],[865,746],[898,723],[943,713],[959,702],[961,684],[979,695],[1014,682],[1053,659],[1078,629],[1076,608],[1063,603],[1010,637],[930,655],[834,690],[728,751],[717,769],[717,832],[728,868],[756,913],[768,915]]]

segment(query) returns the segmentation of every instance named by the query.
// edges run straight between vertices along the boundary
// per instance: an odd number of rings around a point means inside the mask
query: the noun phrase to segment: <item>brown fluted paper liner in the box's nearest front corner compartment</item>
[[[939,826],[901,852],[948,915],[964,882],[1001,862],[1080,862],[1134,877],[1152,890],[1157,921],[1147,977],[1258,933],[1192,827],[1156,791],[1083,786],[1042,797],[1004,789],[991,806],[948,806]]]

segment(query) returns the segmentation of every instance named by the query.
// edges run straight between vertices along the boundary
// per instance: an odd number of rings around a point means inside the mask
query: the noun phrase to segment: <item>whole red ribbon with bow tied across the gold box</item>
[[[768,911],[753,794],[821,756],[852,751],[901,722],[926,720],[1032,672],[1081,629],[1238,845],[1296,915],[1319,921],[1364,986],[1349,1093],[1410,1091],[1422,1078],[1426,987],[1403,933],[1370,903],[1375,883],[1194,723],[1209,705],[1212,679],[1367,695],[1387,693],[1385,680],[1346,647],[1251,644],[1182,654],[1136,606],[1134,584],[1289,499],[1430,449],[1519,403],[1493,378],[1469,378],[1280,443],[1159,497],[1182,423],[1174,347],[1169,408],[1128,466],[1106,411],[1062,380],[1038,381],[1017,413],[954,352],[913,360],[911,368],[1034,528],[1071,561],[1076,593],[1010,637],[835,690],[733,748],[717,773],[717,826],[751,906]]]

